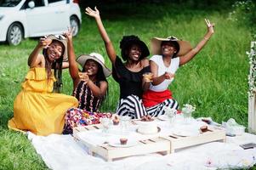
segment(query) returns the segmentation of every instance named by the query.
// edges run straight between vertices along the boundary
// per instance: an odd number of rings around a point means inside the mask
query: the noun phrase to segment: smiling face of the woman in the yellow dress
[[[47,48],[47,56],[50,61],[60,59],[64,53],[64,45],[61,42],[53,41]]]

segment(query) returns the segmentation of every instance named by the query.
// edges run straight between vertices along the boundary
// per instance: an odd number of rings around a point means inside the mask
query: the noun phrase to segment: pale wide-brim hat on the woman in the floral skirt
[[[77,63],[79,63],[79,65],[81,65],[83,68],[84,64],[88,59],[93,59],[94,61],[96,61],[102,66],[105,77],[109,77],[111,75],[111,70],[106,67],[105,59],[100,54],[97,54],[97,53],[82,54],[77,58]]]

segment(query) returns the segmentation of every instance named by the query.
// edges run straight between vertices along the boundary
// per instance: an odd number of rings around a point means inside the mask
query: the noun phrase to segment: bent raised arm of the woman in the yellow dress
[[[36,48],[32,51],[29,58],[27,59],[27,65],[30,66],[30,68],[33,67],[43,67],[44,59],[43,55],[39,54],[43,48],[46,48],[48,44],[51,43],[51,40],[48,40],[46,37],[40,38],[39,42],[37,43]]]

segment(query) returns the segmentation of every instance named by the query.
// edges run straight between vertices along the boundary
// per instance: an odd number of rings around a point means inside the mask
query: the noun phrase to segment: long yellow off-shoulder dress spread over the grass
[[[75,97],[53,94],[54,75],[47,79],[45,68],[31,68],[14,100],[14,117],[8,126],[14,130],[31,131],[46,136],[62,133],[65,111],[77,107]]]

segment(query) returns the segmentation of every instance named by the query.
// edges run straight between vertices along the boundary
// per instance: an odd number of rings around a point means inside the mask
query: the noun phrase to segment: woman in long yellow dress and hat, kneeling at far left
[[[39,54],[42,49],[43,54]],[[65,59],[65,37],[51,35],[40,38],[28,58],[30,70],[21,85],[20,94],[14,100],[14,117],[9,120],[9,128],[43,136],[62,133],[65,111],[78,105],[75,97],[55,93],[60,93]]]

